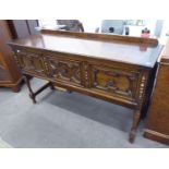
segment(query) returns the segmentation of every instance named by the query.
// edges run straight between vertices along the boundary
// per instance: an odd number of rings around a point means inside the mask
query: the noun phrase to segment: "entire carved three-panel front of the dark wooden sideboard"
[[[148,77],[144,69],[39,50],[22,49],[16,56],[21,69],[29,75],[77,86],[112,100],[143,102]]]

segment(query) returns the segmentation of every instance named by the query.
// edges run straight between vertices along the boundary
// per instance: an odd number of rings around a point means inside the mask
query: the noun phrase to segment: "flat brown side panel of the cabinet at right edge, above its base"
[[[169,143],[169,64],[159,65],[157,84],[148,113],[146,129],[168,135]],[[147,131],[147,133],[150,133]],[[152,135],[161,137],[159,134]],[[155,138],[156,140],[156,138]],[[160,138],[162,140],[162,138]],[[165,138],[166,140],[166,138]]]

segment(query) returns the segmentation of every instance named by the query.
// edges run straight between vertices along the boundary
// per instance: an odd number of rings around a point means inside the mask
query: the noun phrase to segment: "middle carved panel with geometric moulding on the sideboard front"
[[[48,77],[69,83],[82,85],[82,68],[80,61],[67,60],[64,57],[44,57]]]

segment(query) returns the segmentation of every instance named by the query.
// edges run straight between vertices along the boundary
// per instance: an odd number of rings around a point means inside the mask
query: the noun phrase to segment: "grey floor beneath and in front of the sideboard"
[[[45,82],[32,80],[37,88]],[[14,94],[0,88],[0,147],[20,148],[165,148],[143,137],[141,123],[134,144],[128,142],[132,111],[77,93],[51,92],[32,104],[26,86]]]

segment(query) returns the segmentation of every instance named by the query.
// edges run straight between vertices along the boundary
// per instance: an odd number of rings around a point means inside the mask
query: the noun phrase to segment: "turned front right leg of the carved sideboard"
[[[130,143],[133,143],[135,140],[136,130],[137,130],[140,120],[141,120],[141,110],[136,110],[133,113],[133,124],[132,124],[132,129],[131,129],[130,136],[129,136]]]

